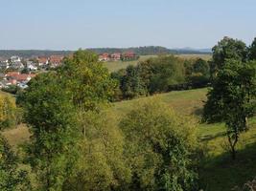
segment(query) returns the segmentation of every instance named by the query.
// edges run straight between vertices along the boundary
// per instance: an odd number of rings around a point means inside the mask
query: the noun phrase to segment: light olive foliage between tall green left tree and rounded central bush
[[[123,136],[109,112],[83,114],[83,138],[77,175],[65,190],[111,190],[128,184],[130,172],[123,156]]]

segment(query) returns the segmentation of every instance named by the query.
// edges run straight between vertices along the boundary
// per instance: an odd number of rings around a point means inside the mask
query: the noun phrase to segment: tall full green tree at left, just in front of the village
[[[56,73],[40,74],[19,97],[32,133],[27,161],[38,180],[38,190],[61,190],[77,159],[74,107]]]

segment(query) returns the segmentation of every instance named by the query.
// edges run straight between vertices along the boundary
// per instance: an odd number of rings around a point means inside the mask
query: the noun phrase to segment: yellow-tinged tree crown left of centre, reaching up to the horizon
[[[74,105],[83,111],[98,110],[111,101],[117,87],[117,82],[98,62],[98,55],[88,51],[79,50],[66,58],[58,74],[66,80]]]

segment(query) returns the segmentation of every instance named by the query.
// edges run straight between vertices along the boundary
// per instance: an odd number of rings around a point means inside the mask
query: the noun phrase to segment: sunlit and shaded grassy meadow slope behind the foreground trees
[[[206,93],[207,89],[198,89],[156,96],[173,107],[176,113],[198,120],[198,139],[205,149],[206,156],[199,168],[200,183],[206,187],[206,191],[229,191],[235,185],[242,185],[256,176],[256,120],[253,118],[249,121],[250,130],[241,136],[238,158],[232,161],[225,149],[224,125],[199,123],[202,101],[206,99]],[[117,102],[108,110],[122,117],[142,99],[147,97]],[[24,125],[8,130],[4,135],[12,146],[27,141],[30,136]]]

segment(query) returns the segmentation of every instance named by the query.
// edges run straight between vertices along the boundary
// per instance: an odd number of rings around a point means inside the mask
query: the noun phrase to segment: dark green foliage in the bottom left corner
[[[28,172],[18,169],[17,157],[14,155],[10,145],[2,135],[0,135],[0,190],[32,190],[28,179]]]

